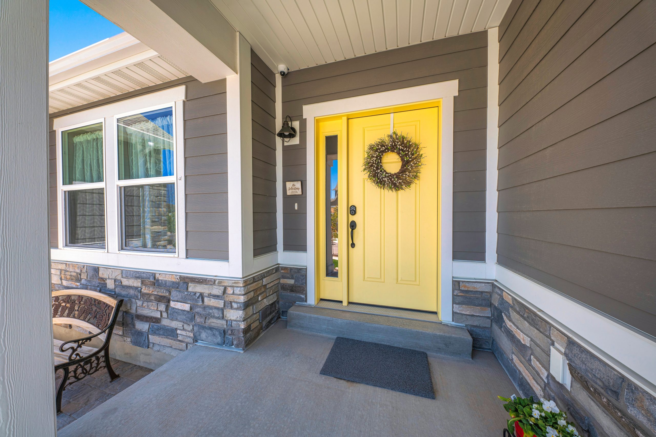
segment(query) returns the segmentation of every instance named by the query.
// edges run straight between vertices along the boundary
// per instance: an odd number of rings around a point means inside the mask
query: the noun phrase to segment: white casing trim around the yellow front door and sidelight
[[[327,115],[366,111],[392,105],[414,104],[428,100],[442,99],[441,134],[441,248],[440,248],[440,318],[445,322],[453,321],[453,96],[458,95],[458,81],[446,81],[428,85],[412,86],[398,90],[377,92],[365,96],[351,97],[340,100],[330,100],[311,105],[303,105],[303,118],[307,119],[307,291],[308,303],[314,304],[315,290],[315,143],[314,119]]]

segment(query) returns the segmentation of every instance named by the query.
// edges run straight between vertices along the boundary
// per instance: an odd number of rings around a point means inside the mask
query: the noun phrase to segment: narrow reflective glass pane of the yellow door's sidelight
[[[326,276],[337,278],[339,271],[338,223],[337,223],[337,183],[338,157],[337,135],[327,136],[326,142]]]

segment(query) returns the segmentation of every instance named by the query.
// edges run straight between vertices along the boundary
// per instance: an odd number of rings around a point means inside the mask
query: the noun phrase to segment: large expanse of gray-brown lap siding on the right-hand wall
[[[547,3],[500,32],[498,262],[656,335],[656,8]]]

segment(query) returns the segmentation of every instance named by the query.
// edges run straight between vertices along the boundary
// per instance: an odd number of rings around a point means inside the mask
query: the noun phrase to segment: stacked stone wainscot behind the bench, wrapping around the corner
[[[194,341],[244,349],[279,316],[280,269],[243,280],[51,263],[52,290],[124,299],[113,338],[177,355]]]

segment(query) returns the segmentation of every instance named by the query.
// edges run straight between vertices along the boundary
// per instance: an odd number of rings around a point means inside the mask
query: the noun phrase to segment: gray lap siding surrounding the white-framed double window
[[[228,259],[226,81],[200,83],[192,77],[149,86],[51,115],[49,209],[52,247],[56,247],[58,243],[56,138],[55,132],[52,130],[53,119],[178,85],[187,87],[183,111],[186,256],[189,258]]]

